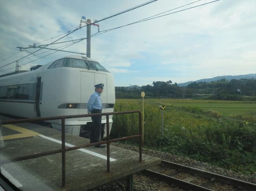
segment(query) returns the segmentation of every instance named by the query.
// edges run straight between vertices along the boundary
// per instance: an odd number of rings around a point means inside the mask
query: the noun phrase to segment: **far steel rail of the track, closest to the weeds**
[[[205,178],[210,178],[213,180],[217,180],[219,182],[223,182],[232,186],[237,186],[237,187],[243,187],[245,189],[249,189],[249,190],[256,190],[256,184],[250,183],[250,182],[245,182],[243,180],[237,180],[235,178],[230,178],[228,176],[223,176],[223,175],[218,175],[215,173],[210,173],[207,171],[203,171],[200,169],[196,169],[193,167],[188,167],[188,166],[184,166],[181,164],[177,164],[174,162],[169,162],[166,160],[161,160],[161,164],[163,164],[164,166],[173,168],[173,169],[177,169],[177,170],[181,170],[187,173],[191,173],[194,175],[198,175],[198,176],[202,176]]]

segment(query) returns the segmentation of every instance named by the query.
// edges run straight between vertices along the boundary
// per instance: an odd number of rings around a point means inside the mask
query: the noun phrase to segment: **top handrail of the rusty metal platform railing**
[[[140,113],[140,112],[141,111],[139,111],[139,110],[134,110],[134,111],[117,111],[117,112],[108,112],[108,113],[93,113],[93,114],[63,115],[63,116],[52,116],[52,117],[15,119],[15,120],[2,121],[1,124],[6,125],[6,124],[17,124],[17,123],[26,123],[26,122],[50,121],[50,120],[58,120],[58,119],[70,119],[70,118],[81,118],[81,117],[91,117],[91,116],[119,115],[119,114]]]

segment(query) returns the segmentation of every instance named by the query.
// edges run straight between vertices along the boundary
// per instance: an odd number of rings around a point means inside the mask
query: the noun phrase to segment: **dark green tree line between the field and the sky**
[[[256,79],[193,82],[187,87],[177,83],[154,81],[139,87],[115,87],[116,98],[140,98],[141,91],[148,98],[192,98],[213,100],[256,100]]]

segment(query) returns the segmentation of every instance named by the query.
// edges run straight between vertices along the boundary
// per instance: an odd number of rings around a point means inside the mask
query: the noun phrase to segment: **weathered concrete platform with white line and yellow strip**
[[[0,119],[7,118],[0,116]],[[37,124],[4,125],[0,133],[0,162],[61,148],[60,131]],[[87,143],[89,139],[66,134],[67,147]],[[4,164],[1,172],[21,190],[73,191],[91,189],[160,164],[159,158],[143,155],[143,162],[139,162],[139,153],[110,146],[110,172],[107,172],[106,156],[106,147],[67,151],[65,187],[61,186],[61,153]]]

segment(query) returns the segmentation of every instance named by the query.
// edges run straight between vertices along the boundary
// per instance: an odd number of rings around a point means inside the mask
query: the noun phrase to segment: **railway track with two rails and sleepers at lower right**
[[[161,165],[142,172],[144,175],[174,184],[182,189],[195,191],[213,191],[214,184],[231,185],[235,191],[256,191],[256,184],[237,180],[227,176],[210,173],[200,169],[161,160]],[[201,181],[197,181],[201,180]],[[215,190],[215,189],[214,189]],[[223,190],[223,189],[219,189]]]

